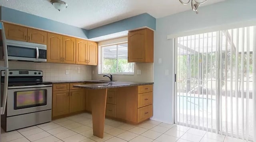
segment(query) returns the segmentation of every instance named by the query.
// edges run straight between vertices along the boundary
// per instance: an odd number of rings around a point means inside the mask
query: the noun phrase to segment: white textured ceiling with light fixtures
[[[0,0],[0,5],[85,29],[148,13],[160,18],[190,10],[178,0],[64,0],[68,8],[59,12],[50,0]],[[184,2],[187,0],[184,0]],[[203,5],[224,0],[208,0]],[[200,12],[200,9],[199,9]]]

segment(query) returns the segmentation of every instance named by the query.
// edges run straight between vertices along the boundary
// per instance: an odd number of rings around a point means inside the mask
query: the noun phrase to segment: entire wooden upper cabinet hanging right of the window
[[[144,28],[128,33],[128,62],[154,62],[154,31]]]

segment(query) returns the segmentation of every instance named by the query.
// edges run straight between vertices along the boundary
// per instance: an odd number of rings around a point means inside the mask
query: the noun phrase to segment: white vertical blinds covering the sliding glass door
[[[175,123],[256,136],[256,28],[176,38]]]

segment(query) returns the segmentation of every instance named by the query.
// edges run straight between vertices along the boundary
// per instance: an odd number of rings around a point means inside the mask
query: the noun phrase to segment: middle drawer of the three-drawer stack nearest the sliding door
[[[138,94],[138,108],[152,104],[152,93]]]

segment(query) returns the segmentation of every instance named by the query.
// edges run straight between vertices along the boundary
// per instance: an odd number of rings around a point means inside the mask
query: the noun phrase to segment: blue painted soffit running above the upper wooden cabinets
[[[96,39],[97,37],[104,36],[107,37],[108,35],[113,35],[114,33],[120,33],[141,27],[148,27],[153,30],[156,29],[156,18],[147,13],[126,18],[91,30],[86,30],[11,8],[6,8],[4,6],[1,6],[0,9],[1,21],[12,22],[85,39]]]

